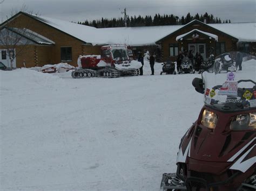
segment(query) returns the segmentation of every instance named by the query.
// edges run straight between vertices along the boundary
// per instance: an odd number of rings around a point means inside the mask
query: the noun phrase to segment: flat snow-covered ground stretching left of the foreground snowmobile
[[[199,74],[72,79],[0,70],[0,190],[158,190],[203,98]]]

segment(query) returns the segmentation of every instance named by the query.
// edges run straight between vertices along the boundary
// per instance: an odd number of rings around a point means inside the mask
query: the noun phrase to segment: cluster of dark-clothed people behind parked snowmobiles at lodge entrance
[[[177,71],[179,72],[181,63],[183,59],[189,59],[192,63],[192,66],[194,66],[194,69],[196,71],[200,70],[201,63],[203,62],[203,56],[197,52],[194,56],[192,53],[192,50],[190,50],[188,53],[185,50],[184,52],[179,51],[179,54],[177,55],[176,61],[177,61]]]

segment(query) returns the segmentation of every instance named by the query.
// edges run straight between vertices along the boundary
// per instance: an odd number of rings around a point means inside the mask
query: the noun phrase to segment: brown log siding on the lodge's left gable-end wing
[[[54,29],[51,26],[45,25],[38,20],[30,18],[26,15],[19,15],[17,18],[10,21],[8,24],[12,27],[24,27],[31,31],[34,31],[42,36],[52,40],[55,42],[55,45],[52,47],[49,46],[37,46],[37,60],[34,63],[38,66],[43,66],[45,64],[56,64],[60,62],[66,62],[70,65],[77,66],[77,58],[81,54],[99,54],[99,46],[87,46],[83,45],[84,42],[80,41],[74,37],[69,36],[69,34],[65,34],[57,29]],[[72,48],[72,60],[71,61],[62,61],[60,58],[60,47],[71,47]],[[29,50],[27,50],[29,51]],[[31,50],[30,50],[31,51]],[[34,52],[34,50],[32,51]],[[28,53],[31,54],[31,53]],[[18,60],[28,60],[28,58],[24,57],[25,54],[19,55]],[[19,58],[22,56],[21,58]],[[33,58],[34,59],[34,58]],[[30,62],[31,65],[31,62]],[[18,67],[18,66],[17,66]]]

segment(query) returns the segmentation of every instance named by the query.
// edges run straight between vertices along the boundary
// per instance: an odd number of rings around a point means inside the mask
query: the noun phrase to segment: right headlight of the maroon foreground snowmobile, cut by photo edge
[[[230,129],[234,131],[256,129],[256,112],[235,116]]]

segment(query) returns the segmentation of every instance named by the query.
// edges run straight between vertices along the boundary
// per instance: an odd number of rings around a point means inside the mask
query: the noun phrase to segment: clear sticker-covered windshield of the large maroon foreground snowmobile
[[[256,57],[244,52],[227,52],[203,72],[204,103],[218,110],[256,108]]]

